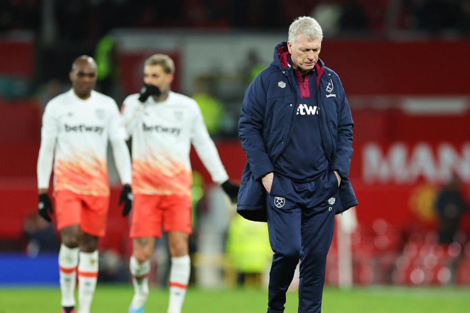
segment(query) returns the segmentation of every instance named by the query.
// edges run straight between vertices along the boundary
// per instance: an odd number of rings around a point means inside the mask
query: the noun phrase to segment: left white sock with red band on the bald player
[[[59,251],[59,276],[60,291],[63,307],[74,307],[75,280],[77,279],[78,248],[69,248],[65,244],[60,245]]]

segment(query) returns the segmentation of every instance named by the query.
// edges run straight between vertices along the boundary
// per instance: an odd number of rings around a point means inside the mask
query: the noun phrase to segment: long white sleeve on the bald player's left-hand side
[[[38,163],[36,167],[38,189],[47,189],[49,187],[49,179],[54,160],[54,148],[58,133],[58,120],[54,117],[51,106],[47,105],[43,114],[41,147],[39,148]]]

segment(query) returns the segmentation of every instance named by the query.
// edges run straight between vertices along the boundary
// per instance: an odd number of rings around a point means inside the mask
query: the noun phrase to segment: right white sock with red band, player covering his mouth
[[[181,307],[183,306],[188,287],[190,270],[191,260],[188,255],[171,258],[168,313],[181,313]]]

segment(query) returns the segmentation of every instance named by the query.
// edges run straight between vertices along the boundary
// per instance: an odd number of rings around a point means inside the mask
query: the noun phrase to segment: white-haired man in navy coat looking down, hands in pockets
[[[237,212],[267,221],[274,251],[268,313],[284,312],[299,260],[299,312],[321,312],[334,216],[357,205],[351,110],[338,75],[318,57],[322,39],[317,21],[296,19],[248,87],[238,123],[247,163]]]

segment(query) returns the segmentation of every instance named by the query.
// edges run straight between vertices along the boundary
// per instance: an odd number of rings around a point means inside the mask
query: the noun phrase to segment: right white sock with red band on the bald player
[[[98,279],[98,250],[80,252],[78,261],[78,313],[90,313]]]

